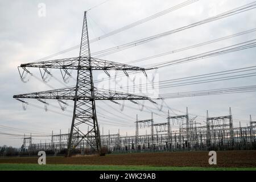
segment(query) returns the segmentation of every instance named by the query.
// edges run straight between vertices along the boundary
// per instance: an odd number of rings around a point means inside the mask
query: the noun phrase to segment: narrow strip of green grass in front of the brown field
[[[0,171],[256,171],[256,168],[151,167],[72,164],[0,164]]]

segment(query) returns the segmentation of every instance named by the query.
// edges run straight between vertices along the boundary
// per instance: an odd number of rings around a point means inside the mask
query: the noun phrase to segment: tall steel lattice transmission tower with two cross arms
[[[87,142],[89,146],[97,150],[97,152],[100,152],[101,140],[96,115],[96,100],[150,100],[150,98],[145,96],[112,92],[111,90],[94,87],[92,74],[92,71],[94,70],[103,70],[107,75],[108,70],[121,70],[125,73],[126,71],[143,71],[144,75],[146,75],[146,69],[90,57],[86,11],[84,13],[82,26],[79,57],[21,64],[18,69],[22,80],[26,73],[32,75],[27,67],[39,68],[44,81],[46,81],[47,76],[51,75],[47,70],[48,68],[60,69],[64,81],[70,76],[68,69],[77,70],[76,86],[13,96],[17,100],[22,101],[23,105],[27,104],[27,102],[23,101],[23,98],[35,98],[45,105],[47,105],[47,102],[44,101],[46,99],[55,99],[59,104],[66,104],[62,100],[73,100],[75,102],[71,131],[68,140],[68,156],[72,154],[72,150],[74,150],[82,141]],[[22,71],[20,71],[20,69],[22,69]],[[150,101],[154,102],[152,100]]]

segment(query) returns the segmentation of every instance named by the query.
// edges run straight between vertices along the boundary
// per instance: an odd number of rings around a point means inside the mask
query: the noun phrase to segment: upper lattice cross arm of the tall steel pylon
[[[89,59],[91,65],[89,66]],[[80,65],[79,65],[80,61]],[[34,68],[57,68],[57,69],[80,69],[82,70],[123,70],[123,71],[145,71],[152,68],[141,68],[133,65],[116,63],[113,61],[97,59],[93,57],[71,57],[67,59],[56,59],[48,61],[39,61],[34,63],[20,64],[20,67]]]

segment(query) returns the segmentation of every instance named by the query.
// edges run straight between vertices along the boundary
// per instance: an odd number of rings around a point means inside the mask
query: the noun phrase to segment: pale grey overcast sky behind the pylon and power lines
[[[23,141],[22,135],[24,135],[24,133],[30,135],[30,131],[34,132],[32,135],[42,133],[51,134],[52,130],[55,134],[59,133],[60,130],[61,133],[68,132],[68,129],[71,127],[72,102],[68,102],[69,106],[66,111],[61,111],[57,101],[49,101],[49,109],[61,113],[57,114],[51,111],[44,111],[44,105],[36,100],[27,100],[29,103],[42,107],[42,109],[28,105],[27,110],[24,111],[22,104],[14,100],[13,95],[75,85],[73,79],[71,79],[68,84],[65,84],[61,81],[60,71],[53,69],[51,72],[54,77],[51,78],[47,84],[44,84],[44,82],[37,79],[40,78],[38,68],[30,69],[35,76],[29,77],[29,81],[24,84],[19,78],[17,67],[22,63],[30,63],[80,44],[84,10],[99,5],[88,12],[89,38],[93,39],[184,1],[185,0],[109,0],[102,5],[100,4],[104,2],[103,0],[1,1],[0,146],[7,144],[20,147]],[[199,0],[191,5],[182,7],[179,10],[160,16],[159,18],[155,18],[139,26],[130,28],[129,30],[122,31],[109,38],[91,43],[90,49],[91,52],[96,52],[146,38],[147,36],[160,34],[168,30],[198,22],[250,2],[252,1]],[[38,15],[40,9],[38,5],[40,3],[46,5],[46,16]],[[100,58],[117,61],[119,63],[127,63],[128,61],[141,59],[143,57],[153,56],[217,39],[222,36],[236,34],[237,32],[255,28],[255,13],[255,9],[246,11]],[[156,59],[133,63],[133,65],[141,66],[180,59],[251,39],[255,39],[255,32]],[[159,81],[254,66],[255,55],[255,48],[250,48],[207,59],[200,59],[186,64],[162,68],[158,70]],[[79,49],[52,57],[51,59],[75,56],[79,56]],[[75,71],[72,72],[72,75],[75,77]],[[100,72],[94,73],[94,80],[96,80],[99,75]],[[246,85],[255,85],[255,77],[179,86],[159,90],[159,93],[188,92],[193,90]],[[161,104],[161,101],[157,102]],[[166,104],[174,111],[174,113],[172,111],[170,112],[171,115],[184,114],[186,107],[188,107],[189,114],[191,114],[190,117],[192,118],[197,115],[197,122],[202,124],[204,124],[205,121],[206,110],[209,110],[210,117],[214,117],[218,115],[228,115],[229,107],[232,108],[234,119],[249,120],[249,115],[251,114],[253,119],[256,120],[255,103],[255,92],[166,100]],[[97,101],[97,117],[100,123],[101,133],[103,126],[104,134],[108,133],[108,130],[110,130],[110,133],[115,134],[118,132],[118,129],[120,129],[121,135],[126,135],[126,132],[128,135],[134,135],[136,114],[138,114],[139,119],[148,119],[151,117],[151,110],[156,113],[154,114],[155,122],[166,122],[165,118],[168,111],[166,105],[164,105],[162,111],[158,111],[156,106],[151,102],[145,101],[144,104],[145,106],[153,107],[153,109],[144,108],[140,111],[141,106],[126,101],[125,107],[123,111],[121,111],[120,106],[113,102]],[[249,122],[241,122],[242,126],[246,126],[246,123]],[[234,126],[238,125],[239,121],[234,120]],[[177,126],[172,126],[172,129],[177,129]],[[141,133],[144,132],[145,130],[141,131]],[[150,129],[147,129],[147,132],[149,133]],[[6,135],[6,133],[15,134],[16,136]],[[49,142],[49,139],[48,137],[35,137],[32,142],[36,143],[40,142],[40,140],[42,142]]]

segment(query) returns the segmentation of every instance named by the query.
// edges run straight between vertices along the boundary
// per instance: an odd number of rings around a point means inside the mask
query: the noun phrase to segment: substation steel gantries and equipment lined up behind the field
[[[188,114],[188,113],[187,113]],[[154,123],[151,119],[135,121],[135,135],[117,134],[101,135],[103,147],[112,153],[126,152],[154,152],[154,151],[195,151],[195,150],[251,150],[256,149],[256,121],[252,121],[250,115],[249,125],[233,127],[231,110],[230,115],[209,117],[207,112],[206,125],[197,126],[195,118],[187,121],[188,115],[170,116],[168,112],[167,122]],[[187,122],[189,127],[187,128]],[[172,130],[172,125],[179,125]],[[183,127],[185,125],[185,127]],[[139,129],[144,126],[150,128],[151,133],[140,134]],[[162,129],[160,128],[162,127]],[[188,131],[187,131],[188,129]],[[103,132],[102,132],[103,134]],[[59,154],[67,148],[69,132],[66,134],[51,135],[51,143],[32,143],[32,137],[24,135],[23,149],[26,151],[49,150]],[[188,137],[188,138],[187,138]],[[26,146],[26,142],[29,143]],[[88,143],[80,143],[78,146],[81,154],[92,154]]]

